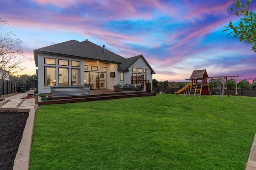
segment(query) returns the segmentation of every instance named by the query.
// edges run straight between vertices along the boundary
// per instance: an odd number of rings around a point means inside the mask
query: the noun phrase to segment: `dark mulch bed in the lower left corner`
[[[28,113],[0,112],[0,170],[12,170]]]

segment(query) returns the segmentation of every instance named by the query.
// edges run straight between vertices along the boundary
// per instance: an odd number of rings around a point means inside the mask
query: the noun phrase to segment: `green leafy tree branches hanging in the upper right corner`
[[[252,51],[256,53],[256,14],[249,10],[251,2],[252,0],[236,0],[236,3],[231,5],[232,7],[228,9],[231,12],[230,16],[241,17],[240,22],[239,25],[233,25],[230,21],[229,25],[225,27],[229,29],[224,31],[231,29],[232,32],[228,35],[233,34],[233,37],[238,38],[240,42],[252,44]]]

